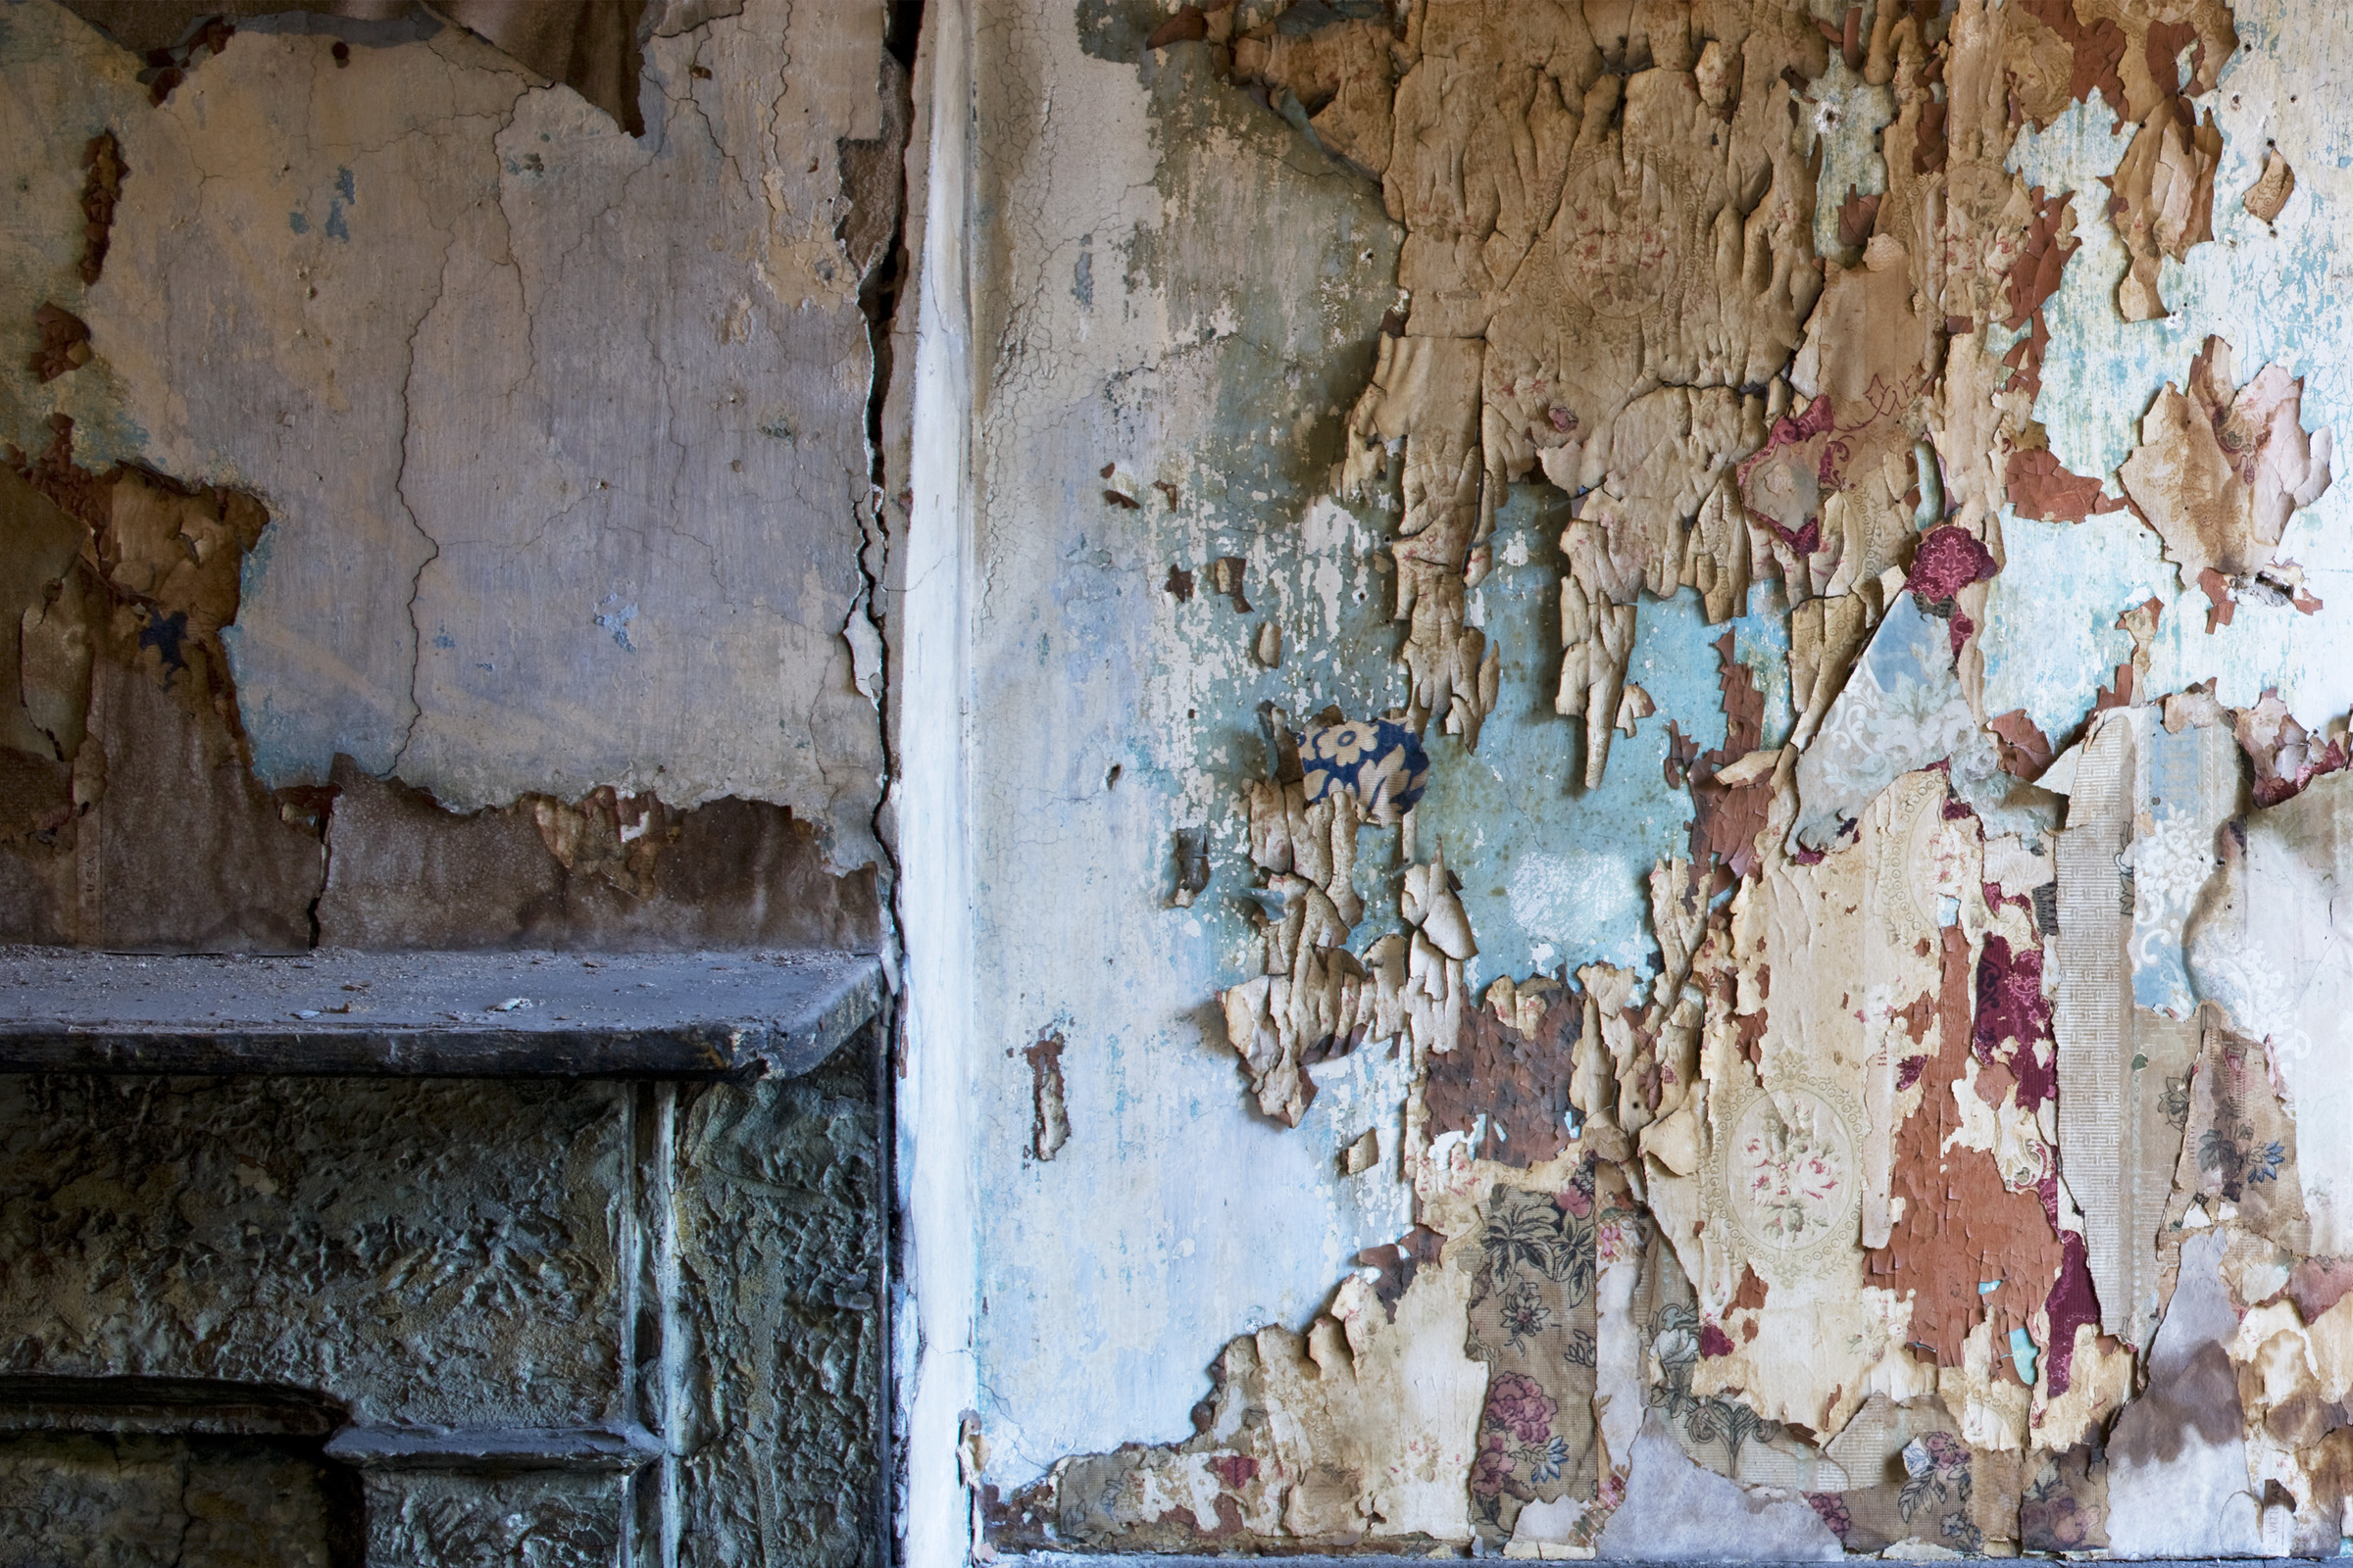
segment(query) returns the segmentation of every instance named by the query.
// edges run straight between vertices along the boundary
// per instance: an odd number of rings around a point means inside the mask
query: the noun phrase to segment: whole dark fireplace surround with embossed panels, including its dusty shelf
[[[878,1561],[882,1009],[833,952],[0,950],[0,1507]]]

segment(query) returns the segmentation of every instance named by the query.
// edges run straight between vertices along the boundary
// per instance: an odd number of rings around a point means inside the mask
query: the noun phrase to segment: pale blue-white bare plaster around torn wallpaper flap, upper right
[[[2082,249],[2045,308],[2052,329],[2035,416],[2052,451],[2071,470],[2099,475],[2108,494],[2118,465],[2139,444],[2148,404],[2167,381],[2181,383],[2209,334],[2233,348],[2240,381],[2264,364],[2304,378],[2304,425],[2353,437],[2353,313],[2344,280],[2353,275],[2353,233],[2332,197],[2353,167],[2353,122],[2304,113],[2341,80],[2353,45],[2311,26],[2287,0],[2235,7],[2240,47],[2212,94],[2198,99],[2224,132],[2214,179],[2214,240],[2167,261],[2160,292],[2172,315],[2125,322],[2115,284],[2125,252],[2106,221],[2106,186],[2132,127],[2113,129],[2113,110],[2078,103],[2045,132],[2026,132],[2012,167],[2028,183],[2075,190]],[[2261,174],[2278,139],[2297,169],[2297,193],[2266,226],[2240,197]],[[2341,468],[2341,463],[2339,463]],[[2184,592],[2158,541],[2129,515],[2085,524],[2031,524],[2005,517],[2009,569],[1995,583],[1995,625],[1986,637],[1986,710],[2026,708],[2052,738],[2089,712],[2092,689],[2129,656],[2113,632],[2118,614],[2155,595],[2167,602],[2153,649],[2153,691],[2219,679],[2224,703],[2252,703],[2278,686],[2297,719],[2320,726],[2353,708],[2353,661],[2332,656],[2353,637],[2353,487],[2339,482],[2289,520],[2278,555],[2306,571],[2322,599],[2315,616],[2240,604],[2233,623],[2205,632],[2205,595]]]

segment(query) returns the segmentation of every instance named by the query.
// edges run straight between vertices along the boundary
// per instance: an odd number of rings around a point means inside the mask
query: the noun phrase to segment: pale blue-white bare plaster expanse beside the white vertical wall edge
[[[974,240],[1019,268],[986,294],[1024,301],[984,327],[1007,343],[998,386],[1021,395],[984,414],[974,644],[974,1352],[998,1486],[1186,1436],[1233,1335],[1304,1326],[1360,1248],[1409,1225],[1407,1063],[1367,1048],[1315,1067],[1315,1103],[1282,1128],[1249,1105],[1217,1006],[1261,966],[1238,809],[1268,766],[1259,703],[1299,724],[1405,701],[1393,520],[1325,498],[1398,235],[1369,181],[1184,59],[1198,52],[1169,52],[1139,92],[1134,63],[1035,47],[1054,125],[1085,103],[1085,129],[1024,153],[1038,186],[984,188]],[[1247,611],[1212,590],[1219,557],[1247,562]],[[1191,597],[1167,592],[1172,567]],[[1278,668],[1252,658],[1268,621]],[[1176,830],[1209,835],[1188,910],[1165,903]],[[1398,926],[1395,844],[1360,835],[1358,945]],[[1019,1046],[1047,1027],[1068,1041],[1071,1140],[1038,1161]],[[1365,1131],[1384,1164],[1339,1178]]]

